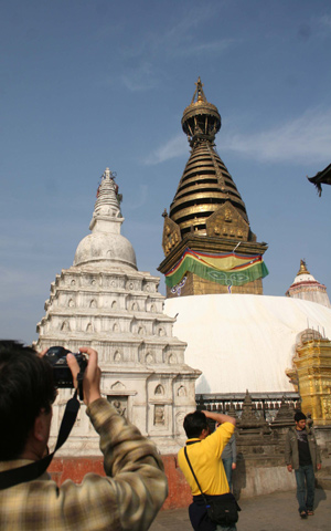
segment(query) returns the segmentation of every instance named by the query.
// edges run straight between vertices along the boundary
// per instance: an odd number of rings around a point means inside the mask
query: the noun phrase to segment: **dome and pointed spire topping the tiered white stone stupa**
[[[130,269],[137,271],[135,249],[120,233],[124,222],[118,201],[118,186],[115,175],[106,168],[97,191],[92,233],[79,242],[74,266],[92,264],[103,269]]]

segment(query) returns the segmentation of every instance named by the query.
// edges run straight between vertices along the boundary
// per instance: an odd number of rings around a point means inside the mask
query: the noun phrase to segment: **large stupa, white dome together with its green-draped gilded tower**
[[[218,110],[206,100],[200,77],[195,85],[181,119],[190,156],[162,215],[164,311],[177,315],[173,331],[188,343],[185,362],[202,372],[195,387],[203,395],[200,404],[217,407],[217,397],[225,404],[241,394],[239,402],[246,389],[299,398],[286,371],[305,330],[331,339],[325,287],[300,270],[289,296],[263,294],[268,246],[258,242],[234,178],[215,150]]]

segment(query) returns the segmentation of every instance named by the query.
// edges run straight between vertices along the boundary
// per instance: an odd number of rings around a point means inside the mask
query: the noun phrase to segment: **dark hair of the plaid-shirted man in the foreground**
[[[0,341],[0,460],[21,456],[42,409],[56,398],[50,363],[21,343]]]

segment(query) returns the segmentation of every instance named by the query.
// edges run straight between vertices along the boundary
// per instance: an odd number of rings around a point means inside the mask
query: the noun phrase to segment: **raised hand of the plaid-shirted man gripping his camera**
[[[89,406],[93,402],[102,397],[100,395],[100,377],[102,371],[98,366],[98,354],[93,348],[82,346],[79,351],[88,355],[87,367],[83,379],[84,404]],[[77,375],[79,365],[73,354],[67,354],[66,361],[73,375],[74,386],[77,388]]]

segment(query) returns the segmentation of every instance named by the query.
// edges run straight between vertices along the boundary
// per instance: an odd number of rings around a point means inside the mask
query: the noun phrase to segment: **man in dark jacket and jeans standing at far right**
[[[297,499],[301,518],[313,514],[314,471],[321,468],[320,451],[313,429],[306,425],[307,417],[302,412],[295,415],[296,426],[286,437],[285,459],[289,472],[295,470],[297,481]]]

